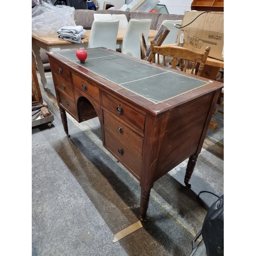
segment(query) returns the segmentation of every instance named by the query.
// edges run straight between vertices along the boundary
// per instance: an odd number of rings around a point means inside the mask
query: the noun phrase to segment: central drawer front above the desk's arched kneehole
[[[96,86],[93,86],[88,80],[81,78],[72,73],[73,84],[75,87],[83,91],[84,93],[91,96],[94,100],[99,102],[99,89]]]

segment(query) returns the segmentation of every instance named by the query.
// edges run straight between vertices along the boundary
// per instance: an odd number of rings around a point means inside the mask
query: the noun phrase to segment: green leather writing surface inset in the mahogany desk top
[[[77,59],[76,51],[58,54],[155,104],[209,84],[200,77],[188,77],[104,49],[86,51],[84,63]]]

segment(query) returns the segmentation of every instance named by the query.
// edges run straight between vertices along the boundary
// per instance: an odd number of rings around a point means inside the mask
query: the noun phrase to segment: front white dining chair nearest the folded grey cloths
[[[119,19],[94,20],[88,48],[105,47],[116,51]]]

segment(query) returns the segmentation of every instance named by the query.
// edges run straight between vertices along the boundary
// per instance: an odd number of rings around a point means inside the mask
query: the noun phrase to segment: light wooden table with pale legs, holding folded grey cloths
[[[125,29],[119,29],[117,34],[116,48],[121,48],[122,40]],[[148,33],[147,45],[150,45],[150,40],[155,38],[157,30],[150,30]],[[35,54],[35,61],[37,63],[38,71],[41,77],[41,83],[44,88],[47,88],[47,79],[45,77],[44,66],[42,65],[40,57],[40,48],[45,49],[48,52],[59,52],[59,51],[71,51],[78,49],[86,49],[90,38],[91,30],[86,31],[86,38],[83,38],[83,44],[73,44],[70,41],[60,40],[56,36],[32,36],[32,50]]]

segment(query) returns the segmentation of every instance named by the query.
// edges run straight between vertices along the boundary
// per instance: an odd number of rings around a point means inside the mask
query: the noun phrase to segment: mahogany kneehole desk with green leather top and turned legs
[[[188,183],[223,84],[105,48],[47,53],[68,136],[66,111],[82,122],[98,116],[103,146],[140,182],[140,218],[160,177],[188,160]],[[136,68],[134,68],[136,67]]]

